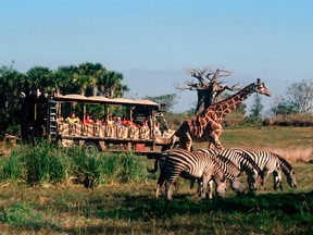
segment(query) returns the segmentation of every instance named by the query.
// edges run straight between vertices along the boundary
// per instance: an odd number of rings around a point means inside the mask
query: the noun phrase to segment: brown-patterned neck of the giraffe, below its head
[[[208,111],[213,110],[220,119],[224,118],[240,106],[252,92],[254,92],[254,83],[248,85],[231,97],[209,107]]]

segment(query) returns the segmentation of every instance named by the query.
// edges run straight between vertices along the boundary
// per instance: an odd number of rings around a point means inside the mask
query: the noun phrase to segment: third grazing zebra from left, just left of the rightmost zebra
[[[250,190],[256,189],[256,180],[261,174],[259,165],[248,156],[236,152],[231,149],[212,150],[208,148],[200,148],[197,151],[201,152],[215,152],[215,157],[222,161],[231,161],[241,172],[248,175],[248,185]]]

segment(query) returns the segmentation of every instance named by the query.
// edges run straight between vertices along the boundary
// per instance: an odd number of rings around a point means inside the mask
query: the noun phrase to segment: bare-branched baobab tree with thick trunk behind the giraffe
[[[198,82],[193,81],[187,82],[187,87],[181,87],[176,85],[176,89],[179,90],[196,90],[198,95],[198,102],[195,110],[195,114],[201,112],[206,109],[209,106],[221,101],[223,99],[223,94],[225,90],[234,91],[235,87],[238,85],[234,85],[231,87],[223,84],[221,82],[221,77],[230,76],[231,72],[226,70],[215,70],[212,69],[190,69],[187,71],[192,77],[197,78]]]

